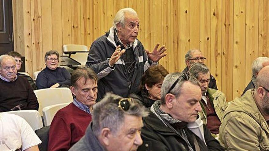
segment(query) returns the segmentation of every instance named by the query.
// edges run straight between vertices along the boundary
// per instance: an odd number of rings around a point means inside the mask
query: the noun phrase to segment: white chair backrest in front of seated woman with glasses
[[[73,101],[72,92],[69,88],[44,88],[34,92],[39,102],[38,111],[41,115],[43,115],[42,110],[46,106]]]

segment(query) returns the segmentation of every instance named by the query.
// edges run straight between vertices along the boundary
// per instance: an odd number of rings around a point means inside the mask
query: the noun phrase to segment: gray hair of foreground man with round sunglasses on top
[[[146,108],[136,101],[131,102],[129,110],[121,110],[118,107],[120,99],[123,98],[119,95],[107,93],[100,102],[93,106],[92,129],[95,136],[99,136],[103,128],[109,128],[113,134],[116,134],[123,125],[124,115],[136,117],[148,115]]]

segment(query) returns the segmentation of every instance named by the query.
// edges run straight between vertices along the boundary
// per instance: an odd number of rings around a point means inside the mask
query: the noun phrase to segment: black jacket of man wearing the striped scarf
[[[144,127],[141,130],[143,144],[138,151],[189,151],[186,142],[166,127],[162,121],[152,112],[143,118]],[[204,125],[205,143],[188,128],[184,128],[190,144],[193,146],[193,135],[196,137],[201,151],[223,151],[223,147],[213,138],[210,131]]]

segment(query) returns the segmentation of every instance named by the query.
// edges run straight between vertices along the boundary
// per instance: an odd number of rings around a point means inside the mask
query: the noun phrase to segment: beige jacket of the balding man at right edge
[[[254,100],[255,89],[236,98],[224,112],[219,142],[229,151],[269,151],[269,128]]]

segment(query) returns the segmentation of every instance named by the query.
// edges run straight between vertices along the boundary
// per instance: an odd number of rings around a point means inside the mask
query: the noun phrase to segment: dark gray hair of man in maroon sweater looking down
[[[194,63],[189,70],[190,74],[197,78],[199,77],[199,74],[208,74],[210,73],[208,67],[204,63]]]

